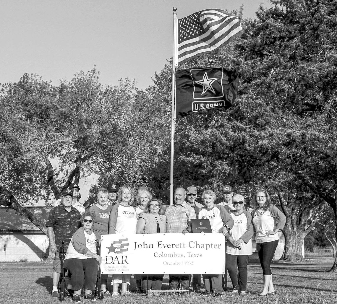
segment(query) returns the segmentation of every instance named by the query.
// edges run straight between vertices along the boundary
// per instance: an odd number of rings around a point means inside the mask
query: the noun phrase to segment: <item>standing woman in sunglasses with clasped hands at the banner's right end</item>
[[[246,296],[248,258],[253,253],[252,236],[254,228],[251,214],[245,210],[245,199],[237,194],[232,198],[235,211],[229,215],[234,226],[226,236],[226,265],[233,283],[232,293]],[[239,274],[238,271],[239,270]]]

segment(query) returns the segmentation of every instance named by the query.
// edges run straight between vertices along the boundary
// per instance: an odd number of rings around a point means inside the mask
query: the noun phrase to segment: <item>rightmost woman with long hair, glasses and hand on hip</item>
[[[277,232],[283,229],[286,218],[272,204],[268,192],[264,189],[255,192],[253,204],[255,207],[252,212],[253,224],[256,231],[255,241],[263,272],[263,290],[259,296],[276,295],[270,263],[278,245],[279,238]]]

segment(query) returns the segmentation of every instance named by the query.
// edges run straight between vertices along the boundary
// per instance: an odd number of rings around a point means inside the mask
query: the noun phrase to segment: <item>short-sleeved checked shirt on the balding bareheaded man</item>
[[[191,219],[196,218],[195,211],[184,201],[181,205],[172,205],[166,208],[165,216],[167,218],[166,232],[181,233],[188,225]]]

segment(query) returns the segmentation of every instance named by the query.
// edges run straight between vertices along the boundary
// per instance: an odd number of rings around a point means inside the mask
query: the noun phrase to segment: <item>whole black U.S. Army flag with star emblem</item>
[[[212,108],[228,108],[238,92],[239,72],[225,68],[177,71],[176,117]]]

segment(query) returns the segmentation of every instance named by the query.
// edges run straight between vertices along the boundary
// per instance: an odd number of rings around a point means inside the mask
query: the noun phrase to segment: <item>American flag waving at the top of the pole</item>
[[[212,52],[243,34],[239,18],[221,9],[207,9],[178,20],[176,62],[182,64]]]

